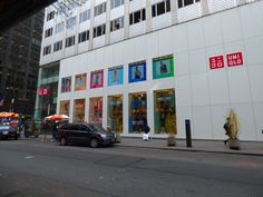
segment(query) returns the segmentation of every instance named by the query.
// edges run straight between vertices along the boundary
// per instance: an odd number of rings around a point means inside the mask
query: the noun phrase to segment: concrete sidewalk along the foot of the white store
[[[45,136],[40,135],[37,140],[43,141]],[[51,136],[47,135],[46,140],[52,141]],[[168,147],[166,139],[152,139],[144,141],[143,138],[121,137],[121,141],[116,144],[120,147],[138,147],[163,150],[177,150],[177,151],[201,151],[201,152],[220,152],[220,154],[235,154],[235,155],[252,155],[263,156],[263,142],[256,141],[241,141],[241,150],[232,150],[218,140],[192,140],[192,147],[186,147],[185,139],[176,139],[175,147]]]

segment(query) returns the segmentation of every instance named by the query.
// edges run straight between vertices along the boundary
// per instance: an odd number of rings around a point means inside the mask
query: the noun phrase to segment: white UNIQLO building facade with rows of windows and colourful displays
[[[189,119],[192,138],[221,140],[234,108],[240,139],[262,141],[262,10],[251,0],[88,0],[65,19],[47,8],[36,116],[130,137],[147,120],[160,138],[185,138]]]

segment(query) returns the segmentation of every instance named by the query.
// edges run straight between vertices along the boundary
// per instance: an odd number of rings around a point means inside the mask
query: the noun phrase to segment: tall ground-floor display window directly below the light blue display
[[[123,96],[108,96],[107,125],[115,132],[123,132]]]

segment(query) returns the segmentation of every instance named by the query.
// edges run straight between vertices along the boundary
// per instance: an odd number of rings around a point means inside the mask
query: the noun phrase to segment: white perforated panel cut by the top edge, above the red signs
[[[210,13],[222,11],[237,6],[236,0],[207,0]]]

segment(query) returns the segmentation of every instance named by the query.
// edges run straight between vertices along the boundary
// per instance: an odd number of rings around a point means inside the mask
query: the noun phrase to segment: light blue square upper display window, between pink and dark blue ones
[[[124,67],[113,67],[108,69],[108,86],[124,83]]]

